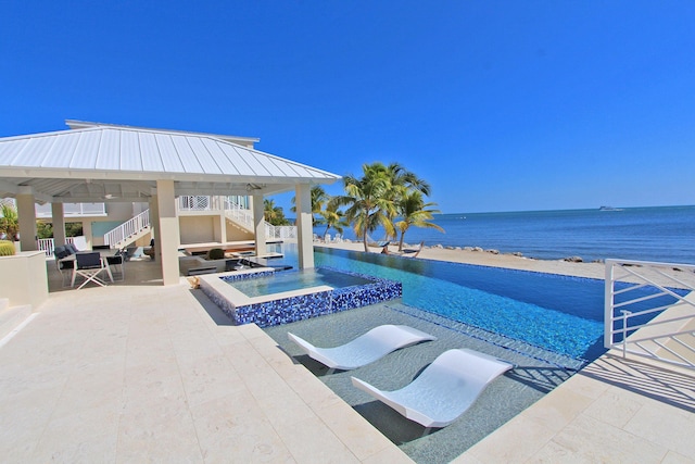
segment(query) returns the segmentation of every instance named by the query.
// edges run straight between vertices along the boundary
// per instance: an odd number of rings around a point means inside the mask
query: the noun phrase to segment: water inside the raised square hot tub
[[[343,274],[331,269],[305,269],[276,272],[268,277],[258,277],[244,280],[227,281],[230,286],[244,293],[247,297],[262,297],[280,293],[283,291],[300,290],[303,288],[329,286],[332,288],[346,288],[358,285],[372,284],[366,278]]]

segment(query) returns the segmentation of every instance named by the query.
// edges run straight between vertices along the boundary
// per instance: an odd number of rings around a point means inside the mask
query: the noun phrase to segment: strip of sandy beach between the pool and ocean
[[[316,247],[338,248],[343,250],[364,252],[362,242],[330,242],[315,243]],[[369,248],[371,252],[379,253],[378,248]],[[397,247],[392,244],[389,250],[395,252]],[[510,269],[534,271],[539,273],[560,274],[576,277],[604,279],[606,266],[604,263],[576,263],[564,260],[536,260],[515,254],[494,254],[489,251],[473,251],[465,249],[447,249],[438,247],[424,247],[417,259],[448,261],[454,263],[475,264],[480,266],[505,267]],[[665,273],[695,286],[695,273],[692,269],[666,269]],[[665,285],[673,286],[673,281],[661,276],[654,276]]]

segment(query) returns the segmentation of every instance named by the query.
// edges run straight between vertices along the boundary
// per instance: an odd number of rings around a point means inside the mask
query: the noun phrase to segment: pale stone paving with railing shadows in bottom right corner
[[[695,376],[608,353],[457,463],[693,462]]]

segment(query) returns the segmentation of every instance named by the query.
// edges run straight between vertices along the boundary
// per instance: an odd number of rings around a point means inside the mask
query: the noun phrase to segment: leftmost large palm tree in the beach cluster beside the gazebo
[[[395,214],[395,205],[391,196],[391,179],[388,168],[382,163],[363,164],[364,175],[357,178],[346,175],[343,178],[345,195],[333,198],[336,206],[346,205],[345,218],[353,224],[357,237],[362,237],[365,252],[369,251],[368,234],[379,225],[387,229],[389,236],[395,230],[390,221]]]

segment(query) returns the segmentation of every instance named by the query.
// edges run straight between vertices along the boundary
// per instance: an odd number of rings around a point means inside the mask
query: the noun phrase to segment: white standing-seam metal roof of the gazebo
[[[84,128],[0,138],[0,197],[29,188],[37,201],[146,201],[159,179],[177,196],[270,195],[340,178],[230,141],[257,139],[70,123]]]

